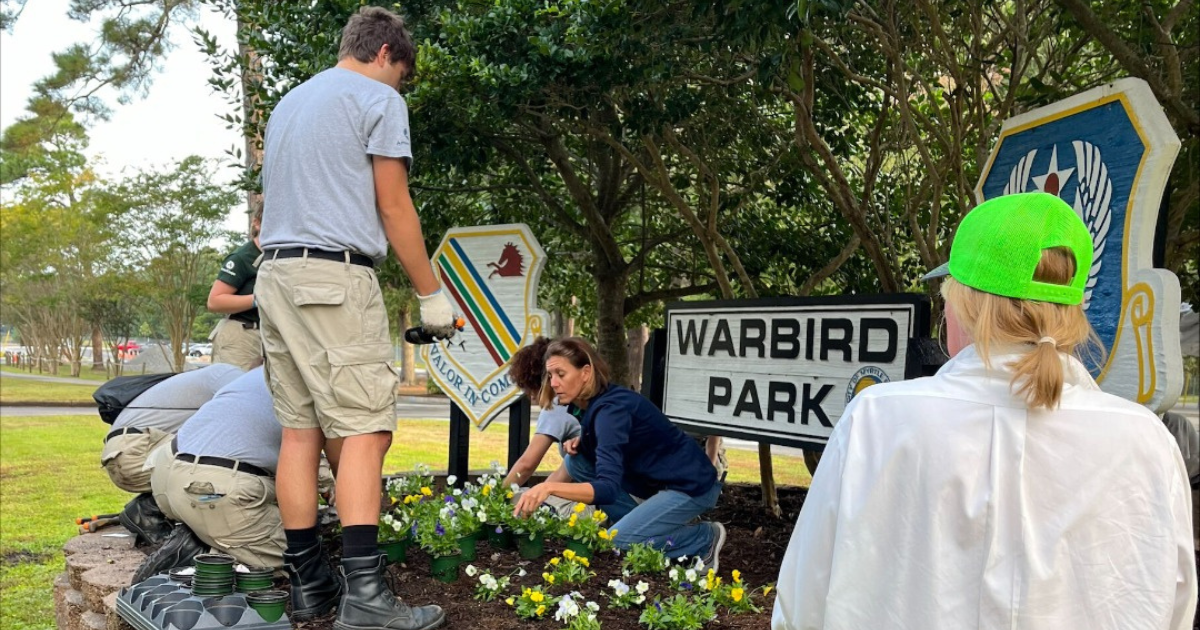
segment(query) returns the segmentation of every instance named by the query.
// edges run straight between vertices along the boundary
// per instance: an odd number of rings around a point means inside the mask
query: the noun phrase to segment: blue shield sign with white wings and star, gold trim
[[[1140,79],[1121,79],[1004,121],[976,197],[1045,191],[1092,233],[1087,318],[1104,344],[1088,367],[1109,392],[1156,412],[1183,385],[1180,281],[1153,269],[1154,228],[1180,140]]]

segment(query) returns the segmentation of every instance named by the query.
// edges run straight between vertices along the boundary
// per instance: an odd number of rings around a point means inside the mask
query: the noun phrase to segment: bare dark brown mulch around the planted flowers
[[[749,587],[757,588],[767,583],[774,583],[779,577],[779,565],[787,548],[787,541],[792,534],[792,526],[796,516],[800,511],[804,502],[804,488],[781,487],[779,490],[780,504],[784,510],[781,518],[770,516],[762,508],[761,490],[757,485],[733,484],[726,486],[721,494],[721,500],[716,509],[706,515],[708,520],[716,520],[725,523],[728,529],[728,538],[725,550],[721,552],[721,576],[728,581],[730,571],[738,569],[742,571],[742,580]],[[336,542],[329,541],[331,546]],[[512,577],[510,592],[520,593],[522,586],[541,584],[541,572],[544,564],[557,553],[563,551],[562,545],[547,541],[546,556],[539,560],[524,560],[517,556],[516,551],[494,551],[485,541],[479,544],[479,554],[474,564],[479,569],[491,570],[497,577],[508,574],[516,574],[517,569],[527,571],[524,577]],[[467,577],[461,574],[458,582],[443,584],[428,576],[428,557],[420,551],[409,550],[408,562],[403,565],[394,565],[389,570],[392,589],[409,604],[438,604],[446,611],[445,628],[451,629],[479,629],[479,630],[509,630],[522,628],[557,628],[559,624],[553,619],[553,611],[547,612],[540,622],[529,622],[517,618],[516,613],[504,604],[503,599],[492,602],[480,602],[473,599],[478,578]],[[637,617],[641,608],[612,608],[608,600],[601,593],[607,590],[608,581],[620,577],[620,560],[612,554],[593,558],[592,569],[595,577],[584,584],[574,587],[553,587],[550,592],[560,595],[569,590],[578,590],[588,600],[600,604],[600,622],[605,630],[640,630]],[[648,593],[649,599],[654,595],[664,598],[672,595],[668,592],[666,576],[643,578],[652,584]],[[634,584],[637,578],[625,578],[626,583]],[[284,581],[286,582],[286,581]],[[761,593],[761,592],[760,592]],[[736,630],[764,629],[770,625],[770,608],[774,604],[775,594],[772,593],[766,599],[757,596],[762,612],[757,614],[728,614],[721,613],[708,628],[726,628]],[[310,623],[296,624],[300,630],[325,630],[334,624],[334,616],[316,619]]]

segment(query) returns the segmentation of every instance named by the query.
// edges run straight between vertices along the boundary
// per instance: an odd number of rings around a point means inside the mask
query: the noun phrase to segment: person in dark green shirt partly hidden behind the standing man
[[[263,358],[263,341],[258,334],[258,308],[254,304],[254,262],[262,254],[258,232],[263,210],[251,222],[252,239],[221,262],[221,270],[209,290],[209,311],[224,313],[226,318],[212,331],[212,362],[230,364],[250,370]]]

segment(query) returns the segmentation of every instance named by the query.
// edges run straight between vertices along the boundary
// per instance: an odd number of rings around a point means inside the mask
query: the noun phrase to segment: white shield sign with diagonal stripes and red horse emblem
[[[454,338],[422,346],[421,356],[430,378],[482,431],[520,396],[509,362],[548,322],[538,308],[546,252],[528,226],[479,226],[448,232],[432,263],[467,323]]]

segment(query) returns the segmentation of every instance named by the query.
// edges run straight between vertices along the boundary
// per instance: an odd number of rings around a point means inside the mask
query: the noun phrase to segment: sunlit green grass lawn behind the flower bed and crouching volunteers
[[[472,433],[473,469],[505,460],[505,428]],[[119,511],[132,498],[100,467],[107,430],[91,415],[0,418],[0,628],[52,628],[53,581],[65,570],[62,545],[77,533],[74,518]],[[448,431],[445,421],[401,420],[384,470],[412,470],[418,463],[445,469]],[[757,452],[731,449],[728,458],[731,481],[758,481]],[[774,461],[780,484],[808,485],[803,460]],[[558,463],[552,450],[541,469]]]

